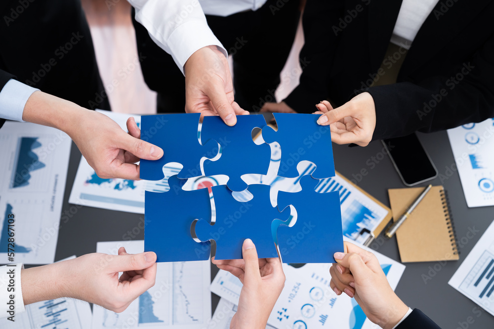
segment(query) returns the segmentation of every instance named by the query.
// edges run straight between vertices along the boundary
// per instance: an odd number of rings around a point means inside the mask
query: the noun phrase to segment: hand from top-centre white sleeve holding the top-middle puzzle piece
[[[229,126],[236,115],[249,114],[234,101],[228,60],[216,46],[206,46],[193,53],[184,65],[185,111],[219,115]]]

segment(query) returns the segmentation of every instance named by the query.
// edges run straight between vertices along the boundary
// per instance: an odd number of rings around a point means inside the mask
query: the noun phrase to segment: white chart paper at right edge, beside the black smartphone
[[[494,119],[448,129],[456,168],[468,207],[494,205]],[[442,176],[441,176],[442,175]],[[448,171],[440,174],[447,179]]]

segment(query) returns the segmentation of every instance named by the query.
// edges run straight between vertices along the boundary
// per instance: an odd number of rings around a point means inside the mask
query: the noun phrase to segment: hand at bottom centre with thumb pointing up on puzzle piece
[[[244,241],[242,254],[244,259],[212,259],[213,264],[235,275],[244,285],[230,328],[264,329],[285,286],[283,267],[280,258],[258,259],[250,239]]]

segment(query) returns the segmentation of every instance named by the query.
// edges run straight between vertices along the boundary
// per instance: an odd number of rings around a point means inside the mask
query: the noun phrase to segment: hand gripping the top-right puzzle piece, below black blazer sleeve
[[[319,111],[314,114],[323,114],[317,123],[329,125],[334,143],[367,146],[371,142],[375,128],[375,106],[368,92],[355,96],[336,109],[328,101],[322,101],[316,107]]]

